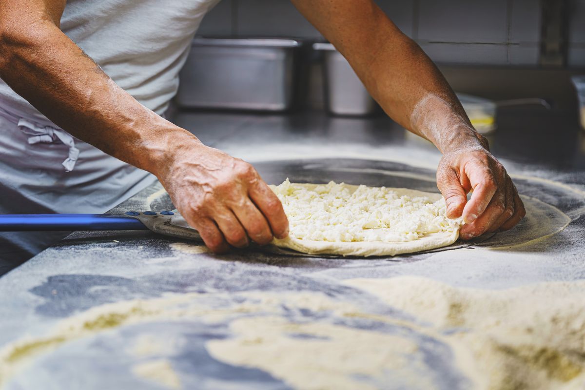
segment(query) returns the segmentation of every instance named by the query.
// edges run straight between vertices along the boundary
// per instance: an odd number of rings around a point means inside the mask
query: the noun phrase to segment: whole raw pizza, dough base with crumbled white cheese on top
[[[441,194],[365,185],[297,184],[271,189],[290,224],[278,247],[309,254],[394,256],[454,243],[461,219],[446,217]]]

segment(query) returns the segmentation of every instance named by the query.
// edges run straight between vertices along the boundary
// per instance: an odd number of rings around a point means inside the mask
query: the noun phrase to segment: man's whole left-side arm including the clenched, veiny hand
[[[65,5],[0,2],[2,80],[73,136],[155,174],[212,250],[286,236],[282,205],[252,165],[204,146],[118,87],[61,32]]]

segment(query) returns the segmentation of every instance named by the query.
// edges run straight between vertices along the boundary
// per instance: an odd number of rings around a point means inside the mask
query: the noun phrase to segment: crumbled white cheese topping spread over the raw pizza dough
[[[302,185],[285,180],[270,186],[283,203],[290,235],[314,241],[417,240],[453,232],[460,225],[445,215],[445,199],[397,194],[392,188],[328,184]]]

